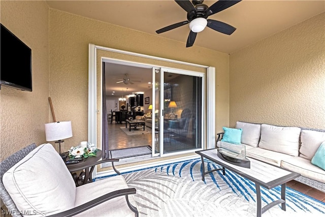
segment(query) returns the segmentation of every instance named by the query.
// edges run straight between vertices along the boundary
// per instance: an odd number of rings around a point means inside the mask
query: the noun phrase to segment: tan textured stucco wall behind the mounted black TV
[[[48,11],[44,1],[1,1],[1,23],[32,52],[32,92],[6,86],[0,90],[1,161],[30,143],[45,142],[44,123],[49,115]]]

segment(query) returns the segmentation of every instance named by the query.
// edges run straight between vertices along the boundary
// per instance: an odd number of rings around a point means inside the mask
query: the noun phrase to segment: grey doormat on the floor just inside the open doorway
[[[122,158],[131,158],[131,157],[151,154],[152,150],[149,145],[146,145],[146,146],[139,146],[139,147],[132,147],[132,148],[115,149],[115,150],[110,150],[110,152],[111,152],[111,158],[122,159]]]

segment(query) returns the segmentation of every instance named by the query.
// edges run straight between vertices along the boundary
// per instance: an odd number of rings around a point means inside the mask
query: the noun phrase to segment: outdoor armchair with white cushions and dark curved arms
[[[128,188],[121,175],[76,187],[67,166],[49,143],[38,147],[31,144],[0,166],[0,196],[14,217],[139,215],[133,197],[136,189]]]

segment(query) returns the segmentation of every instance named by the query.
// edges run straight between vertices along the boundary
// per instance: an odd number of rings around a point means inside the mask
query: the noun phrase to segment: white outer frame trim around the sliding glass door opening
[[[93,143],[93,144],[98,144],[97,141],[97,136],[98,136],[98,130],[102,129],[97,129],[97,120],[96,116],[98,113],[103,115],[103,112],[101,112],[101,108],[97,107],[97,51],[98,50],[104,50],[104,51],[109,51],[109,52],[114,52],[114,53],[121,53],[121,54],[126,54],[126,55],[131,55],[131,56],[138,56],[142,58],[148,58],[148,59],[155,59],[155,60],[160,60],[160,61],[166,61],[167,63],[175,63],[175,64],[181,64],[185,66],[191,66],[191,67],[198,67],[198,68],[204,68],[206,69],[207,76],[206,80],[204,83],[207,86],[206,93],[204,96],[206,96],[206,125],[204,126],[204,133],[203,138],[205,141],[204,145],[206,148],[212,148],[215,146],[215,68],[214,67],[208,67],[208,66],[203,66],[203,65],[198,65],[198,64],[193,64],[193,63],[187,63],[184,61],[179,61],[179,60],[174,60],[174,59],[167,59],[167,58],[162,58],[162,57],[157,57],[157,56],[151,56],[151,55],[146,55],[146,54],[140,54],[140,53],[135,53],[135,52],[129,52],[129,51],[124,51],[124,50],[118,50],[114,48],[108,48],[108,47],[103,47],[103,46],[98,46],[94,44],[89,44],[88,45],[88,142]],[[102,57],[105,59],[105,57]],[[120,61],[125,61],[123,59],[116,59]],[[139,63],[141,64],[141,63]],[[154,68],[163,68],[164,66],[153,66]],[[100,84],[101,85],[101,84]],[[94,170],[94,176],[96,174],[96,168]]]

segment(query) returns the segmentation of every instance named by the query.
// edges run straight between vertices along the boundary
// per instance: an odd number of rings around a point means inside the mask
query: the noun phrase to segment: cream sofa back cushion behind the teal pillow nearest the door
[[[243,129],[241,143],[253,147],[258,146],[259,137],[261,136],[261,125],[237,121],[236,129]]]

